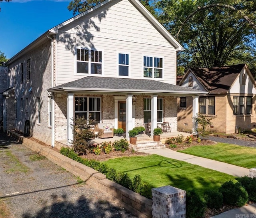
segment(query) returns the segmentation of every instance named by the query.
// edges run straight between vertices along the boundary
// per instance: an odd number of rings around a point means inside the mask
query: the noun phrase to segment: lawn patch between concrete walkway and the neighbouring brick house
[[[256,148],[218,143],[216,145],[194,146],[179,152],[245,168],[256,167]]]

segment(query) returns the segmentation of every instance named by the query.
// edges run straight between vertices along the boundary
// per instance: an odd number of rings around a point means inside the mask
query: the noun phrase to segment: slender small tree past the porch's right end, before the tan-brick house
[[[206,117],[206,115],[202,113],[197,113],[196,116],[193,117],[194,122],[198,124],[196,125],[196,131],[203,138],[209,135],[209,132],[206,130],[206,128],[212,125],[212,119],[214,119],[214,117]]]

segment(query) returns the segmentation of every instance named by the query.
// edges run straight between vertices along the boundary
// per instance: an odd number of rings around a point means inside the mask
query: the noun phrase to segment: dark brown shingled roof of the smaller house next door
[[[227,93],[244,67],[247,68],[246,64],[213,68],[190,67],[190,70],[209,93],[216,94]],[[185,76],[188,76],[188,73]],[[179,85],[183,81],[184,78],[180,81]]]

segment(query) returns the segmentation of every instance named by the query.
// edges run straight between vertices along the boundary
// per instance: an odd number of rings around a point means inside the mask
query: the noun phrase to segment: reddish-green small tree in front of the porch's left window
[[[73,148],[78,155],[85,155],[89,148],[87,141],[96,137],[91,126],[92,120],[87,121],[84,116],[77,116],[73,121],[74,124],[71,124],[74,133]]]

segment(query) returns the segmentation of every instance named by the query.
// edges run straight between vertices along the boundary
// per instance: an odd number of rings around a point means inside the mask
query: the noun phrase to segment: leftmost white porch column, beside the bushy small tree
[[[67,98],[67,143],[71,144],[73,141],[72,126],[74,124],[74,93],[68,93]]]

